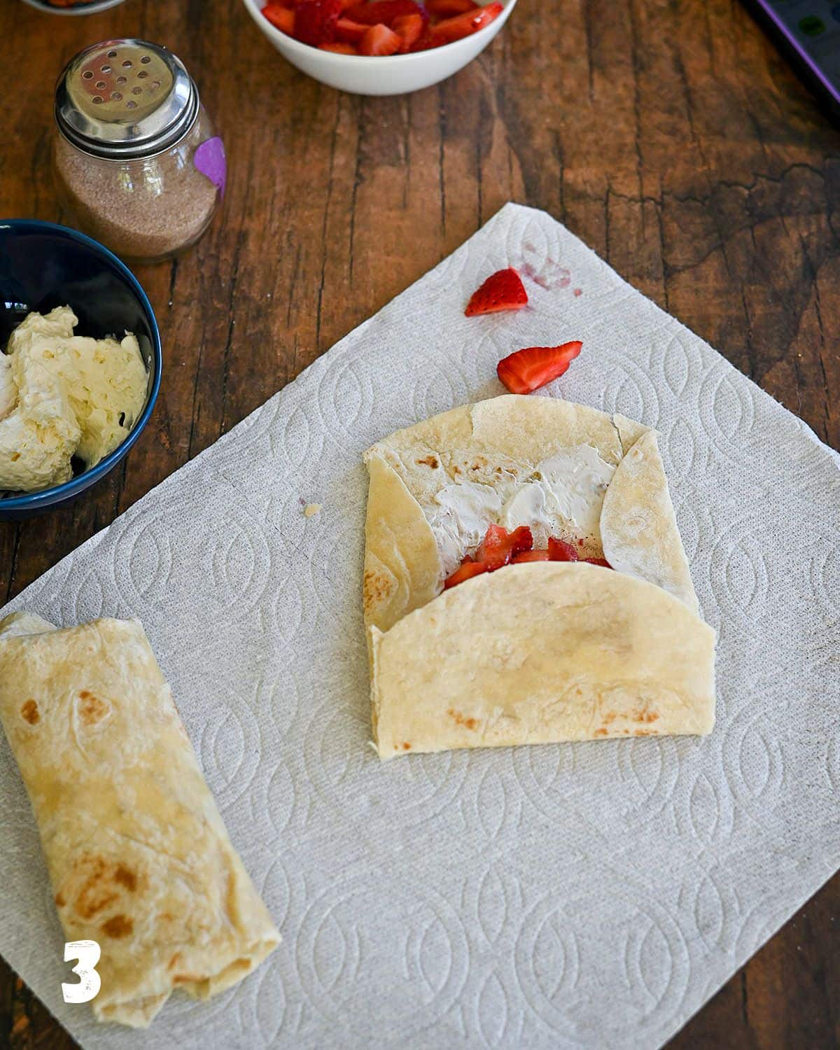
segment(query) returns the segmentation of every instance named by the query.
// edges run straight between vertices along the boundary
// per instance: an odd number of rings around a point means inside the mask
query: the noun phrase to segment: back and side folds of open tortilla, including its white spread
[[[656,432],[642,423],[570,401],[508,394],[397,430],[364,460],[366,628],[387,630],[440,593],[487,525],[502,521],[489,490],[503,504],[518,498],[523,505],[507,524],[533,527],[528,497],[545,488],[546,464],[553,464],[562,495],[568,492],[565,509],[583,508],[585,520],[546,508],[536,545],[545,546],[547,534],[581,543],[586,556],[604,556],[697,611]],[[581,479],[591,481],[591,491],[582,490]],[[446,520],[445,498],[461,492],[470,514],[458,531]]]

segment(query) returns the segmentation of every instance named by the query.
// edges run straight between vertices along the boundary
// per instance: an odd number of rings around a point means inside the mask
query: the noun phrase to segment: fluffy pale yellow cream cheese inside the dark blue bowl
[[[69,307],[29,314],[0,355],[0,489],[67,481],[123,441],[143,411],[147,374],[133,335],[75,336]]]

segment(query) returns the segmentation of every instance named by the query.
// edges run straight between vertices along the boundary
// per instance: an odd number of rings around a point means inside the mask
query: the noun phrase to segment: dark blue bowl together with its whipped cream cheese
[[[161,338],[136,278],[102,245],[0,219],[0,521],[12,521],[76,498],[127,455],[158,396]]]

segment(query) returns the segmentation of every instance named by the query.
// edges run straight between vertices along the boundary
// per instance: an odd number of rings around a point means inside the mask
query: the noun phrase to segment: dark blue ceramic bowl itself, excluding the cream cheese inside
[[[113,469],[149,421],[161,385],[161,334],[136,277],[83,233],[30,218],[0,219],[0,346],[27,313],[68,306],[79,335],[133,332],[149,373],[146,404],[121,445],[62,485],[0,499],[0,521],[30,518],[66,503]]]

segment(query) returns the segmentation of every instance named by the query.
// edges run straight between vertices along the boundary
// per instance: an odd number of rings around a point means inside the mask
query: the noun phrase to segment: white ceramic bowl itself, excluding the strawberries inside
[[[452,77],[484,50],[517,5],[517,0],[501,2],[504,4],[502,14],[463,40],[412,55],[373,57],[336,55],[301,44],[273,26],[261,14],[266,0],[243,0],[251,18],[288,62],[322,84],[354,94],[404,94]]]

